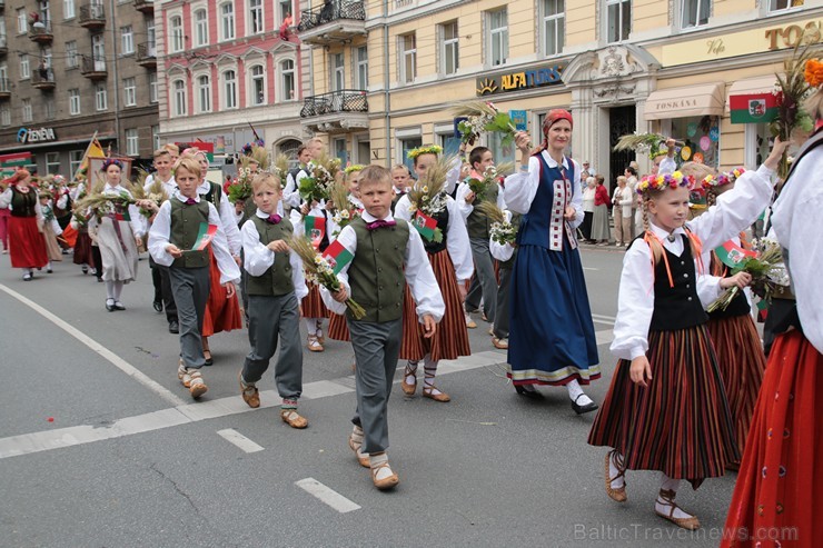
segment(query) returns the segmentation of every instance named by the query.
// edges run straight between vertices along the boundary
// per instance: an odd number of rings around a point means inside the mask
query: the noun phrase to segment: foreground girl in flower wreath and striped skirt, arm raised
[[[666,145],[674,156],[674,140]],[[645,233],[623,262],[612,352],[619,361],[588,442],[614,448],[605,458],[606,494],[626,500],[624,472],[660,470],[655,512],[686,528],[697,518],[674,501],[682,479],[697,488],[738,458],[734,424],[706,330],[701,300],[751,276],[698,277],[701,249],[715,248],[750,226],[769,202],[782,146],[761,169],[746,172],[715,207],[686,222],[693,179],[683,173],[645,177]]]

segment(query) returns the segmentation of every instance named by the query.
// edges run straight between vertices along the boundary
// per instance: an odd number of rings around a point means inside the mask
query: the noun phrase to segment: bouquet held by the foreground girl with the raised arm
[[[773,239],[754,240],[752,255],[741,258],[735,265],[732,273],[748,272],[752,275],[752,291],[765,301],[772,300],[775,286],[789,286],[789,272],[783,263],[783,252],[780,243]],[[737,286],[726,289],[706,308],[706,311],[725,310],[738,292]]]

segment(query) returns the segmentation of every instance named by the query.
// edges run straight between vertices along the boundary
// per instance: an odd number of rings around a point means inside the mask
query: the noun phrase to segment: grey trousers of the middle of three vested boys
[[[242,380],[257,382],[269,368],[269,360],[280,353],[275,365],[275,382],[280,398],[296,400],[303,392],[303,345],[297,296],[249,295],[249,342],[251,350],[242,366]]]

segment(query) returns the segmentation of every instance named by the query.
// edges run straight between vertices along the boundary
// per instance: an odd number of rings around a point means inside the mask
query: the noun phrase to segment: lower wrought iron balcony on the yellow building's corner
[[[361,89],[344,89],[304,100],[300,118],[311,131],[339,133],[368,128],[368,98]]]

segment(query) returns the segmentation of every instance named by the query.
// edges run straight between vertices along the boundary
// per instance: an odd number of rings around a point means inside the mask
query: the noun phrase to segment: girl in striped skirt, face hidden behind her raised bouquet
[[[414,158],[415,168],[422,156],[416,152],[420,150],[429,149],[413,150],[408,155],[409,158]],[[424,152],[424,155],[430,155],[430,152]],[[442,359],[456,359],[458,356],[470,356],[472,353],[468,346],[466,320],[463,315],[463,301],[466,298],[466,281],[472,278],[474,263],[468,231],[457,209],[457,202],[445,192],[448,171],[450,168],[446,161],[437,159],[436,162],[427,166],[425,175],[418,173],[420,178],[415,183],[415,189],[400,198],[395,207],[396,218],[407,220],[418,229],[420,223],[416,218],[416,212],[420,210],[423,213],[425,210],[425,215],[437,222],[437,230],[443,236],[440,241],[436,241],[437,238],[430,232],[420,230],[428,260],[446,303],[446,313],[434,337],[424,337],[423,326],[417,320],[414,299],[409,289],[406,288],[400,346],[400,359],[408,360],[400,385],[403,391],[412,396],[417,390],[417,365],[423,360],[423,396],[440,402],[449,401],[452,398],[435,386],[437,363]],[[434,192],[436,187],[442,187],[440,192]],[[418,203],[417,197],[425,197],[426,203]]]

